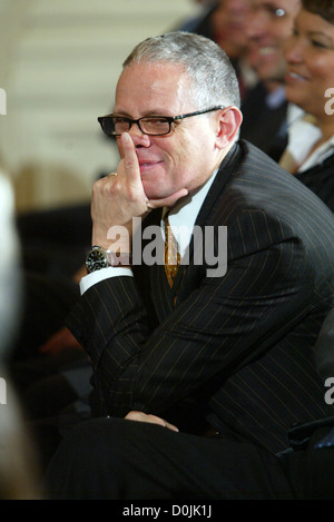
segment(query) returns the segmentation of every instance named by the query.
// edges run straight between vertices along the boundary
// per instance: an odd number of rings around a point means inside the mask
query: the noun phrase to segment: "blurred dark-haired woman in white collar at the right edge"
[[[334,2],[303,0],[284,50],[286,98],[306,117],[291,125],[281,165],[334,211],[333,101],[325,93],[334,87]]]

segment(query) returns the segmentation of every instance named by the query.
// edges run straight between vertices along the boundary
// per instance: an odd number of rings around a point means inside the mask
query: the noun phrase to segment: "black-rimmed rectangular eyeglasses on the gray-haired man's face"
[[[225,109],[224,106],[213,107],[212,109],[197,110],[179,116],[145,116],[138,119],[126,118],[125,116],[100,116],[98,122],[102,131],[108,136],[120,136],[121,132],[128,132],[134,124],[136,124],[144,135],[164,136],[171,131],[171,124],[175,121],[190,118],[191,116],[205,115],[214,110]]]

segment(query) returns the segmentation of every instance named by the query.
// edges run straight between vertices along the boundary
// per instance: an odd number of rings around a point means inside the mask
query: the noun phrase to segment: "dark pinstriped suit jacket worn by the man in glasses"
[[[159,218],[153,211],[147,224]],[[91,357],[110,415],[141,410],[189,432],[206,417],[276,453],[292,424],[334,413],[313,361],[333,307],[333,214],[240,141],[196,224],[227,226],[225,276],[207,277],[190,246],[173,292],[163,266],[137,266],[134,278],[87,290],[68,326]]]

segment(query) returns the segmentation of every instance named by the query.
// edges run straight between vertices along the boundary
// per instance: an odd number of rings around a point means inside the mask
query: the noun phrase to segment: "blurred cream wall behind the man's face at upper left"
[[[19,209],[90,198],[117,165],[97,116],[141,39],[196,13],[193,0],[0,0],[1,162]]]

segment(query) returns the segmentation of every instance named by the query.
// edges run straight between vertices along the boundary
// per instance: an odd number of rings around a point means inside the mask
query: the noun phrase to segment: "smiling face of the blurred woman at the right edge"
[[[334,24],[302,9],[284,53],[287,99],[321,119],[325,91],[334,88]]]

